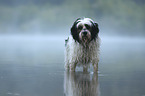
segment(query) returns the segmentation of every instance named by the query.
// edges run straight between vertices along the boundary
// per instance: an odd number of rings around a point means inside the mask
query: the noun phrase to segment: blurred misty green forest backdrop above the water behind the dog
[[[0,33],[67,33],[78,17],[104,34],[145,35],[145,0],[0,0]]]

